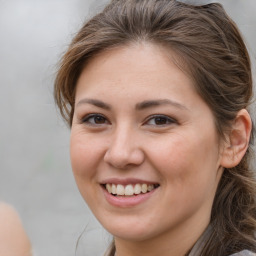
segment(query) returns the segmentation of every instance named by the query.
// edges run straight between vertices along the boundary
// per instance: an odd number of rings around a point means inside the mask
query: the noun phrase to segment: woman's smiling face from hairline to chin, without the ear
[[[77,83],[74,176],[120,239],[205,228],[222,173],[211,110],[164,52],[150,44],[106,51]]]

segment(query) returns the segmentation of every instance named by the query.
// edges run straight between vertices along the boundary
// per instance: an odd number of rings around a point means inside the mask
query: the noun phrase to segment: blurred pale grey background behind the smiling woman
[[[255,83],[256,1],[217,2],[245,37]],[[97,256],[109,241],[76,188],[69,129],[52,96],[59,58],[105,3],[0,0],[0,201],[17,209],[39,256]]]

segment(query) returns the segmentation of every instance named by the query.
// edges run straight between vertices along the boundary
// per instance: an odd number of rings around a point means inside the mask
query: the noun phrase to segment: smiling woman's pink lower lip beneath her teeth
[[[136,196],[114,196],[112,194],[109,194],[105,188],[102,188],[106,200],[111,205],[124,208],[136,206],[147,201],[150,197],[153,196],[157,189],[158,188],[153,189],[145,194],[139,194]]]

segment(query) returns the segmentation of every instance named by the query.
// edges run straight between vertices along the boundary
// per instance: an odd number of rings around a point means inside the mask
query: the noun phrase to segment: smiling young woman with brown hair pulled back
[[[114,0],[83,26],[55,99],[108,255],[254,255],[251,96],[220,4]]]

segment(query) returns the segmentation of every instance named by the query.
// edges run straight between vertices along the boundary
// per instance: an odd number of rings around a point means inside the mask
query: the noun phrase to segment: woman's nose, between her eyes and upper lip
[[[113,132],[104,161],[117,169],[129,169],[144,162],[140,139],[132,129],[120,128]]]

